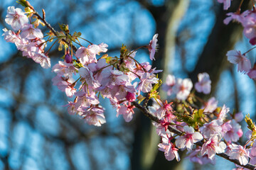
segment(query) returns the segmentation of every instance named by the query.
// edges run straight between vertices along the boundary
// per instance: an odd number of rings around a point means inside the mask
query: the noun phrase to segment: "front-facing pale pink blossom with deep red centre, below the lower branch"
[[[203,140],[201,133],[195,132],[192,127],[184,126],[184,132],[186,132],[186,135],[178,137],[175,142],[179,149],[186,147],[188,150],[191,150],[193,143]]]

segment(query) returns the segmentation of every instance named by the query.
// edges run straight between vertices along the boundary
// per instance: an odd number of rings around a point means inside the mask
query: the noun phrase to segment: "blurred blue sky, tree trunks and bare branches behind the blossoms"
[[[225,56],[228,50],[246,52],[252,47],[243,37],[241,26],[223,24],[225,13],[236,11],[240,1],[233,1],[229,11],[223,11],[223,5],[216,0],[30,2],[39,13],[45,9],[46,20],[57,30],[58,23],[68,23],[71,33],[80,31],[90,42],[107,43],[112,57],[119,56],[122,44],[132,50],[148,45],[153,35],[159,33],[159,50],[152,64],[164,69],[160,75],[163,79],[174,74],[196,82],[198,73],[208,72],[212,92],[204,98],[215,96],[218,106],[225,103],[230,111],[250,113],[256,120],[255,81],[238,73]],[[14,0],[1,1],[1,28],[11,28],[4,22],[8,6],[23,8]],[[250,0],[245,0],[242,8],[248,6]],[[107,123],[100,128],[86,125],[63,107],[68,98],[52,85],[55,74],[50,69],[22,57],[15,45],[4,38],[0,38],[0,44],[0,169],[235,167],[219,157],[215,165],[200,166],[188,159],[181,159],[178,164],[176,160],[168,162],[164,153],[158,151],[159,137],[149,119],[137,111],[135,118],[125,123],[122,116],[116,118],[116,111],[107,101],[102,101]],[[248,57],[252,59],[255,54],[252,50]],[[49,56],[53,66],[63,53],[52,50]],[[149,62],[148,52],[139,50],[137,60]]]

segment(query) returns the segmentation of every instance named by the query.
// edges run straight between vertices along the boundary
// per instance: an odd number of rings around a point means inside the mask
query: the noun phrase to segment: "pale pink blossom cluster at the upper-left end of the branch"
[[[9,6],[5,19],[13,30],[4,28],[4,40],[13,42],[22,55],[31,58],[41,67],[48,69],[50,67],[50,58],[44,52],[46,41],[43,40],[43,33],[36,28],[36,23],[28,23],[28,16],[23,13],[21,8]],[[16,32],[15,32],[16,31]]]

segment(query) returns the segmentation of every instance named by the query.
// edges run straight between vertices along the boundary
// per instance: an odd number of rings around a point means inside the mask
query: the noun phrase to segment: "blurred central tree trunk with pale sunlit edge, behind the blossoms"
[[[182,16],[186,13],[189,0],[166,1],[164,6],[149,6],[146,8],[151,12],[156,21],[156,33],[159,33],[159,50],[156,52],[156,61],[152,67],[163,69],[159,74],[162,79],[168,74],[168,63],[171,62],[175,52],[176,32]],[[161,96],[164,93],[161,93]],[[132,150],[132,169],[174,169],[174,162],[167,162],[164,152],[158,152],[159,136],[151,125],[151,122],[142,113],[137,114],[137,128],[134,134]]]

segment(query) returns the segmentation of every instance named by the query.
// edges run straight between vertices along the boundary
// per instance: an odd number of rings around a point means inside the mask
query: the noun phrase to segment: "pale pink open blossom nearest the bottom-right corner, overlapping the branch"
[[[240,145],[235,145],[230,147],[230,152],[228,156],[230,159],[238,159],[241,165],[246,165],[249,162],[249,151]]]

